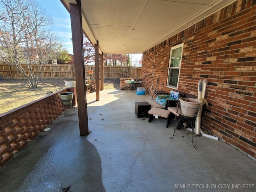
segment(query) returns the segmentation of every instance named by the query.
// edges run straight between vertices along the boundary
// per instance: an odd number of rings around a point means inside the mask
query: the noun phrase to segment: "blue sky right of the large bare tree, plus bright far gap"
[[[62,39],[63,46],[68,50],[68,53],[73,54],[72,34],[70,24],[70,14],[60,2],[60,0],[38,0],[38,3],[46,9],[54,20],[52,32],[58,34]],[[138,63],[142,54],[130,54],[133,63]]]

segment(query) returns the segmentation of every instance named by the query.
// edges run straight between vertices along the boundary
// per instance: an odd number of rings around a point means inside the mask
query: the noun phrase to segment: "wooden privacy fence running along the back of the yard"
[[[38,65],[32,66],[33,70],[36,71]],[[22,65],[26,74],[29,74],[28,67]],[[100,67],[99,67],[100,68]],[[88,77],[88,70],[93,70],[93,76],[95,76],[95,66],[85,65],[85,76]],[[99,69],[101,71],[101,69]],[[0,64],[0,72],[2,78],[22,78],[16,69],[12,68],[9,64]],[[119,79],[119,78],[134,78],[141,79],[141,67],[132,66],[103,66],[104,79]],[[101,77],[101,72],[100,72]],[[53,65],[46,64],[42,66],[41,78],[75,78],[74,65]]]

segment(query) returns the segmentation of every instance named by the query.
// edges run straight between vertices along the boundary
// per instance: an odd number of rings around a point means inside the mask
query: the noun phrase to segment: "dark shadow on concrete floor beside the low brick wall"
[[[59,119],[1,168],[1,192],[106,191],[96,148],[79,136],[78,121]]]

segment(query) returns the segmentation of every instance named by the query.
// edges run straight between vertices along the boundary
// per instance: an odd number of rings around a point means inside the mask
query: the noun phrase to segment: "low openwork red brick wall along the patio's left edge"
[[[58,96],[61,92],[74,92],[62,90],[45,96],[29,104],[0,114],[0,164],[3,166],[10,160],[15,152],[19,152],[29,141],[42,132],[54,119],[63,112]],[[76,99],[73,99],[76,101]]]

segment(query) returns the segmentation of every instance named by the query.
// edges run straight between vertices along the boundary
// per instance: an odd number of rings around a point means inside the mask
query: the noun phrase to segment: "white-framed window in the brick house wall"
[[[183,45],[184,43],[176,45],[172,47],[170,51],[169,70],[167,78],[167,87],[169,88],[178,88]]]

